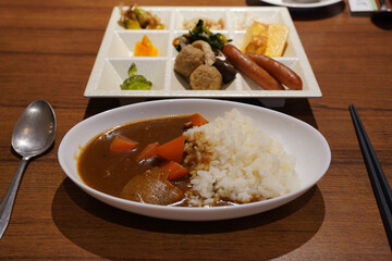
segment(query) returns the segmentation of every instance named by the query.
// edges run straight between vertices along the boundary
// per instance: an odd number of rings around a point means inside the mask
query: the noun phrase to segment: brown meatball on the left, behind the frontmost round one
[[[191,45],[181,49],[175,58],[174,70],[179,74],[189,77],[192,72],[204,63],[204,52]]]

